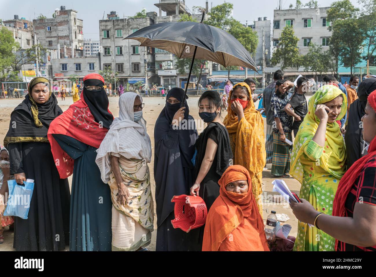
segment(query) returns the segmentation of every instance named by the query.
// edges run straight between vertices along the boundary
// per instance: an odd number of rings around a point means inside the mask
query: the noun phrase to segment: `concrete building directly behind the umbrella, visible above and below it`
[[[200,22],[202,19],[202,14],[191,14],[189,9],[185,5],[185,1],[178,0],[159,0],[159,3],[154,4],[159,8],[159,14],[155,17],[154,23],[162,22],[177,22],[182,14],[191,15],[196,21]],[[166,12],[166,15],[162,15],[162,11]],[[206,13],[208,12],[208,2],[206,1]],[[206,15],[205,15],[206,19]],[[176,57],[174,54],[164,51],[162,49],[155,48],[155,73],[158,75],[158,84],[164,87],[181,87],[181,81],[188,80],[188,70],[186,74],[180,76],[177,73]],[[209,63],[211,64],[211,63]],[[210,66],[209,66],[210,67]],[[209,73],[209,69],[205,68],[202,72],[202,84],[206,85],[206,76]],[[192,82],[197,82],[196,76],[191,76]]]

